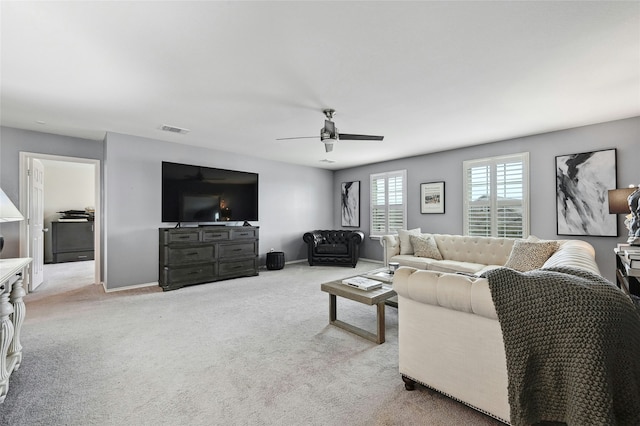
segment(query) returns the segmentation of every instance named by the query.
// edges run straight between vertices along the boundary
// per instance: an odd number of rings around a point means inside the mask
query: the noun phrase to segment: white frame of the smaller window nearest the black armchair
[[[395,178],[401,178],[401,189],[400,194],[397,194],[397,191],[395,192],[395,197],[393,196],[394,191],[391,191],[391,198],[394,198],[394,200],[392,200],[394,202],[390,203],[390,183],[393,183]],[[375,185],[375,182],[378,180],[384,181],[384,196],[382,203],[378,203],[378,201],[380,201],[380,194],[378,194],[377,187]],[[407,229],[407,171],[396,170],[385,173],[373,173],[369,176],[369,183],[370,237],[379,238],[383,235],[397,234],[398,229]],[[400,200],[398,200],[398,195],[401,198]],[[393,217],[396,218],[395,226],[390,223],[390,216],[392,216],[390,215],[390,212],[396,213],[396,215],[393,215]],[[398,213],[401,214],[401,223],[397,222],[397,219],[399,218]],[[384,215],[384,224],[382,229],[376,226],[380,224],[380,220],[374,220],[374,216],[377,214]]]

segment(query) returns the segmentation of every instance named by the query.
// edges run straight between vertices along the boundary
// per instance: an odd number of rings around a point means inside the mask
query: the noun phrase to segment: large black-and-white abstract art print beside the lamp
[[[558,235],[617,236],[607,192],[615,188],[615,149],[556,157]]]

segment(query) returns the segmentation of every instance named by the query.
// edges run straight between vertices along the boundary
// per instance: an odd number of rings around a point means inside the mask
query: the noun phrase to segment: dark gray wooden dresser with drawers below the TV
[[[165,291],[258,275],[257,226],[160,228],[159,233],[158,282]]]

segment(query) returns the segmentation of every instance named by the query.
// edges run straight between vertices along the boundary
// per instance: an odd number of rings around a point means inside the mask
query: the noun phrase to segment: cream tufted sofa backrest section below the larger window
[[[445,260],[504,265],[509,259],[514,238],[472,237],[468,235],[433,234]]]

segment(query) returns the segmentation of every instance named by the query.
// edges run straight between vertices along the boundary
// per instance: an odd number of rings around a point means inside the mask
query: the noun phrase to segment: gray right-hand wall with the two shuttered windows
[[[393,143],[385,141],[384,143]],[[425,142],[428,143],[428,142]],[[596,249],[596,260],[602,274],[615,282],[613,248],[627,239],[624,217],[618,218],[618,237],[568,237],[556,233],[555,157],[578,152],[617,149],[618,188],[640,184],[640,117],[612,121],[592,126],[494,142],[464,149],[440,152],[401,160],[340,170],[334,175],[334,205],[340,206],[340,184],[359,180],[360,230],[369,234],[369,175],[372,173],[407,170],[407,221],[409,228],[421,227],[423,232],[461,234],[462,162],[475,158],[529,152],[531,234],[540,238],[582,239]],[[420,184],[445,182],[445,214],[421,214]],[[334,226],[340,227],[339,208],[334,209]],[[378,240],[366,238],[361,256],[382,260]]]

